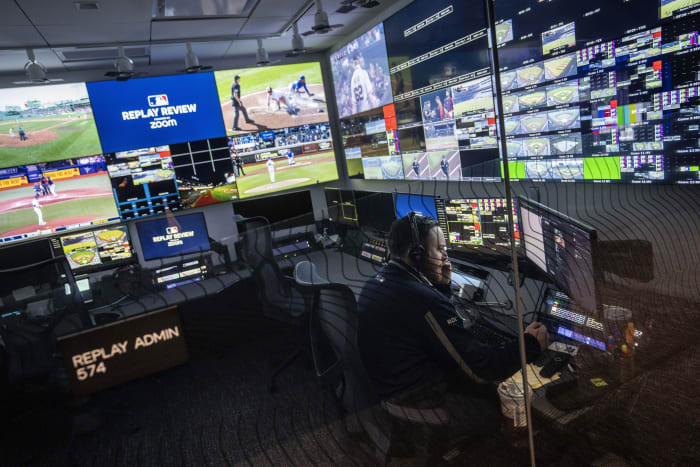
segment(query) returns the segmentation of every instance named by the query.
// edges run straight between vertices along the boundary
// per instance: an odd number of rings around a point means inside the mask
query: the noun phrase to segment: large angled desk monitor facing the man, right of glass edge
[[[583,309],[599,309],[596,230],[535,201],[520,198],[525,256]]]

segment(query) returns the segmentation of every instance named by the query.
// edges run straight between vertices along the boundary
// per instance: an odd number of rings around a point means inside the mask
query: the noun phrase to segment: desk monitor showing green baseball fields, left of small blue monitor
[[[111,268],[134,259],[129,230],[125,225],[88,230],[57,239],[71,269],[86,270]]]

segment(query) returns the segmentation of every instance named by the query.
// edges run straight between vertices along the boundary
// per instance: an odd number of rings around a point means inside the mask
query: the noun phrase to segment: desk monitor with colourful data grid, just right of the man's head
[[[510,254],[505,198],[436,199],[437,219],[448,249],[457,253]],[[513,200],[515,244],[520,246],[517,203]]]

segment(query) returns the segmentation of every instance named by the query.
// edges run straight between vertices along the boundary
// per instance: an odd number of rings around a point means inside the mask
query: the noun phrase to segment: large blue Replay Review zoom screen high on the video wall
[[[226,136],[213,73],[86,85],[106,153]]]

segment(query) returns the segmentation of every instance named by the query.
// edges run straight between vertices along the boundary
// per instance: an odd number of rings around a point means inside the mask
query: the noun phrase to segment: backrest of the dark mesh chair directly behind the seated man
[[[316,372],[333,387],[342,382],[340,401],[348,412],[358,412],[378,400],[371,389],[357,347],[357,303],[344,284],[319,284],[314,289],[311,348]],[[328,350],[331,351],[329,360]]]

